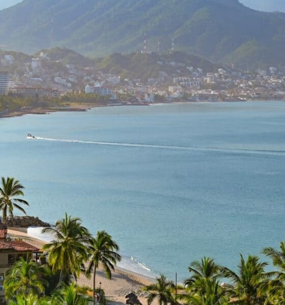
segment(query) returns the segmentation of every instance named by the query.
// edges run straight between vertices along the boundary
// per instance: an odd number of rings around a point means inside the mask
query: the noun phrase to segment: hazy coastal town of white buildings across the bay
[[[143,49],[138,56],[152,55]],[[92,66],[91,60],[79,64],[69,60],[66,64],[66,60],[53,60],[44,51],[28,60],[15,57],[8,51],[0,53],[0,95],[36,99],[29,107],[46,105],[49,100],[67,94],[89,95],[91,104],[92,97],[96,96],[103,105],[285,98],[285,67],[242,71],[233,64],[232,67],[216,65],[211,70],[188,66],[183,60],[165,60],[161,56],[156,61],[161,68],[156,77],[140,78],[138,72],[135,77],[127,78],[122,73],[100,71]],[[1,110],[6,110],[5,105]]]

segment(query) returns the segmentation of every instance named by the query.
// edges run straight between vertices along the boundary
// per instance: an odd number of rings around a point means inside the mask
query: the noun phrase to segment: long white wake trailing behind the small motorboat
[[[68,139],[52,139],[52,138],[42,138],[42,137],[35,137],[35,139],[44,140],[44,141],[107,145],[107,146],[144,147],[144,148],[158,148],[158,149],[172,149],[172,150],[189,150],[189,151],[216,151],[217,153],[227,153],[227,154],[285,156],[284,150],[262,150],[262,149],[223,148],[223,147],[197,147],[197,146],[120,143],[120,142],[99,142],[99,141],[81,141],[81,140],[68,140]]]

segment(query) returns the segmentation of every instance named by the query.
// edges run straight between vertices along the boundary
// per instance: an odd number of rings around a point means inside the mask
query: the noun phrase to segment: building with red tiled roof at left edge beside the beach
[[[39,249],[20,239],[7,237],[7,226],[0,223],[0,304],[5,304],[4,279],[9,270],[20,257],[37,256]]]

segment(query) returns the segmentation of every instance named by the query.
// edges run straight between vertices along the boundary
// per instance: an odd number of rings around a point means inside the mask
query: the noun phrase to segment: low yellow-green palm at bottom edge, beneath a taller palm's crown
[[[200,281],[200,280],[196,280]],[[178,299],[183,300],[186,305],[226,305],[229,304],[229,298],[226,296],[226,290],[223,289],[217,279],[203,279],[204,288],[192,289],[186,288],[185,293],[179,294]]]

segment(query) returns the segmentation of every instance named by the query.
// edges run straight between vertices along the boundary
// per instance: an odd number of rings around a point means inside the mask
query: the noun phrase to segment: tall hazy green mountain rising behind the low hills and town
[[[165,52],[174,39],[177,50],[214,62],[285,64],[285,14],[238,0],[24,0],[0,11],[0,20],[1,44],[29,53],[52,41],[93,57],[131,53],[143,48],[146,32],[150,50],[159,41]]]

